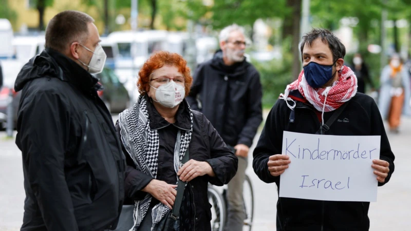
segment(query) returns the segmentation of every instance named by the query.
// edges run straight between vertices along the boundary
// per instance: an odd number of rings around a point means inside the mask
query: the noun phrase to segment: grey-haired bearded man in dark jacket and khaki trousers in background
[[[242,230],[245,219],[242,185],[248,151],[263,120],[262,92],[257,70],[245,60],[244,29],[236,24],[228,26],[221,31],[219,40],[221,50],[195,71],[187,100],[192,109],[206,115],[239,157],[237,174],[228,184],[227,228],[237,231]]]

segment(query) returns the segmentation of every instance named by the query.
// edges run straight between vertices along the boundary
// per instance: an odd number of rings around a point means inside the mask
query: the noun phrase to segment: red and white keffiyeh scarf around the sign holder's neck
[[[298,90],[315,109],[323,112],[333,111],[349,101],[357,93],[357,76],[349,67],[343,66],[338,75],[338,81],[335,81],[331,87],[312,88],[308,85],[304,76],[304,70],[302,70],[300,75],[298,75],[298,79],[287,85],[284,94],[280,94],[279,99],[283,99],[286,102],[293,101],[288,97],[288,94],[291,90]],[[288,102],[287,105],[293,110],[295,102],[293,106]]]

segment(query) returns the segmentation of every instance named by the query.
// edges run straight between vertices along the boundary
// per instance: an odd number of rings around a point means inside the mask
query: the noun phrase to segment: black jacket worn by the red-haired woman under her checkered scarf
[[[150,98],[148,98],[150,99]],[[190,114],[188,103],[184,100],[176,113],[176,123],[171,124],[164,120],[157,112],[154,105],[147,100],[147,111],[150,115],[150,128],[158,130],[159,154],[157,179],[169,184],[177,182],[177,174],[174,170],[174,147],[177,129],[189,130]],[[121,128],[116,123],[116,129],[121,137]],[[125,179],[126,203],[134,204],[134,200],[142,200],[146,192],[141,191],[153,178],[136,169],[132,158],[123,151],[127,160],[127,171]],[[197,177],[190,181],[184,189],[184,199],[180,209],[184,227],[192,227],[189,230],[209,231],[211,230],[211,209],[207,196],[208,183],[222,186],[234,177],[237,172],[238,159],[234,153],[223,142],[210,121],[198,111],[193,110],[193,133],[189,145],[190,160],[207,161],[213,168],[215,177],[208,175]],[[188,203],[188,200],[190,203]],[[154,203],[154,200],[152,201]],[[187,207],[190,206],[190,209]],[[180,227],[181,228],[181,227]],[[187,229],[187,228],[186,228]]]

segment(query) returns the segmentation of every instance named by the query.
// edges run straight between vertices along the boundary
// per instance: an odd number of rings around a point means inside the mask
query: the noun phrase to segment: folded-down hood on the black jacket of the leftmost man
[[[20,70],[14,83],[14,90],[22,90],[26,83],[31,80],[42,78],[44,76],[60,76],[63,78],[62,74],[59,65],[46,50],[43,50],[41,54],[32,57],[32,59],[30,59],[30,61]]]

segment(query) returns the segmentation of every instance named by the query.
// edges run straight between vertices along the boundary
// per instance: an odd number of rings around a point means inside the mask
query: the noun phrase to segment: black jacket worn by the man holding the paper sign
[[[291,123],[291,109],[287,107],[284,100],[277,100],[268,115],[253,153],[255,173],[266,183],[275,182],[278,191],[280,177],[270,175],[267,162],[270,156],[282,153],[283,131],[314,134],[320,128],[320,122],[314,112],[315,108],[302,102],[296,103],[294,122]],[[291,102],[291,104],[293,103]],[[326,122],[333,113],[334,111],[325,112],[324,121]],[[381,136],[380,159],[389,163],[389,174],[385,182],[378,183],[378,185],[384,185],[389,181],[391,174],[394,172],[395,157],[389,146],[377,104],[368,95],[357,93],[326,134],[336,136]],[[279,198],[277,202],[277,231],[368,230],[368,208],[369,202]]]

